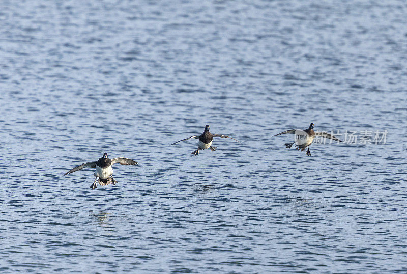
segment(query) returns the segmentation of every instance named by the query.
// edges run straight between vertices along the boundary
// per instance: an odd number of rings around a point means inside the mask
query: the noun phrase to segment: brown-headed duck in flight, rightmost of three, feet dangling
[[[298,150],[301,149],[301,151],[304,151],[305,148],[307,148],[307,153],[306,153],[307,156],[311,156],[311,152],[309,151],[309,146],[312,144],[312,141],[314,140],[315,136],[321,136],[321,137],[329,138],[329,139],[332,139],[332,140],[335,140],[338,142],[343,142],[343,141],[339,140],[338,138],[336,138],[334,135],[331,135],[329,133],[315,132],[313,128],[314,128],[314,124],[311,123],[309,125],[309,127],[305,130],[299,130],[299,129],[286,130],[284,132],[274,135],[273,137],[282,135],[282,134],[296,134],[296,138],[298,138],[296,141],[297,142],[296,147]],[[306,134],[304,134],[303,132],[305,132]],[[303,137],[303,138],[301,138],[301,137]],[[301,141],[299,141],[299,140],[301,140]],[[284,145],[286,148],[290,148],[296,142],[285,143]]]

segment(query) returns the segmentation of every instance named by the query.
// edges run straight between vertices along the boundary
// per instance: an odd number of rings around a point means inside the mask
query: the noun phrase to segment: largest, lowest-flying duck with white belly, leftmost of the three
[[[114,163],[120,163],[122,165],[138,165],[138,162],[133,161],[128,158],[120,157],[120,158],[109,159],[107,157],[107,153],[105,152],[103,154],[103,157],[99,158],[99,160],[97,162],[82,163],[82,165],[77,166],[77,167],[71,169],[70,171],[68,171],[67,173],[65,173],[64,176],[69,173],[86,168],[86,167],[96,168],[95,173],[94,173],[95,181],[93,182],[93,184],[91,185],[90,188],[95,189],[96,183],[99,183],[101,186],[105,186],[108,184],[116,185],[118,182],[116,180],[114,180],[114,178],[112,176],[113,169],[111,168],[111,166]]]

